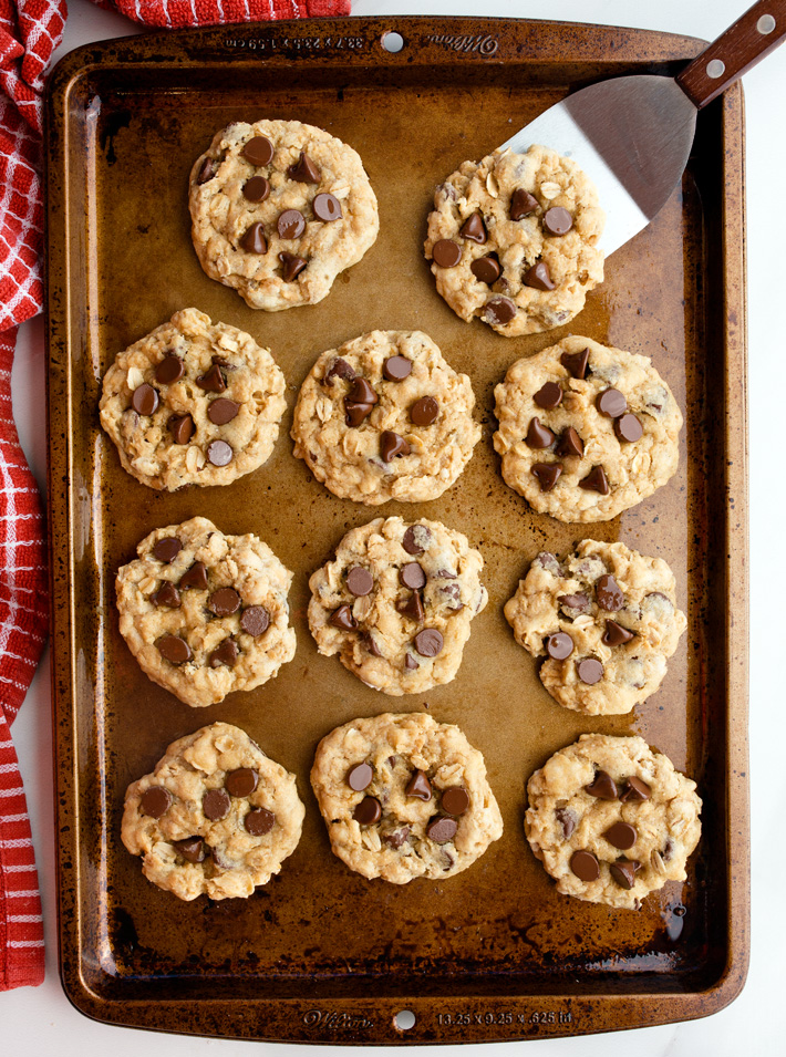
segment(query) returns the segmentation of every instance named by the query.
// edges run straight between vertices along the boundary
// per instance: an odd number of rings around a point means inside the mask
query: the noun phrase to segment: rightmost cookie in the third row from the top
[[[592,539],[561,560],[538,555],[505,618],[516,642],[545,659],[540,681],[555,701],[589,716],[654,694],[687,626],[665,561]]]

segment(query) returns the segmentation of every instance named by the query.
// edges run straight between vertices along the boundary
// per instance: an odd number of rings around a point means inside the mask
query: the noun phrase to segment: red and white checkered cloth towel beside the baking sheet
[[[350,0],[95,0],[168,29],[349,14]],[[11,723],[43,647],[44,524],[11,410],[17,327],[41,311],[43,75],[64,0],[0,0],[0,991],[43,980],[35,860]]]

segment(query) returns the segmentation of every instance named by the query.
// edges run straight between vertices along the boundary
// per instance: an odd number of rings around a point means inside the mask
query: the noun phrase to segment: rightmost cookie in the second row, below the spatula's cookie
[[[682,413],[647,356],[565,338],[494,395],[503,477],[540,514],[608,521],[676,470]]]

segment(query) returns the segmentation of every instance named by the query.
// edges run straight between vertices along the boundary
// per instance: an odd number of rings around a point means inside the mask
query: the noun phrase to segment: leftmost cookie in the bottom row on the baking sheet
[[[304,815],[294,775],[245,730],[214,723],[128,786],[121,837],[147,880],[178,899],[245,898],[292,854]]]

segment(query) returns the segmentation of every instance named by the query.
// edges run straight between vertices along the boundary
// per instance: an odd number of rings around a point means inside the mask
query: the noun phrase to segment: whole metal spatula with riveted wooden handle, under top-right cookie
[[[534,143],[572,158],[606,209],[613,253],[652,220],[687,164],[699,111],[786,37],[786,0],[758,0],[676,77],[601,81],[551,106],[503,144]]]

